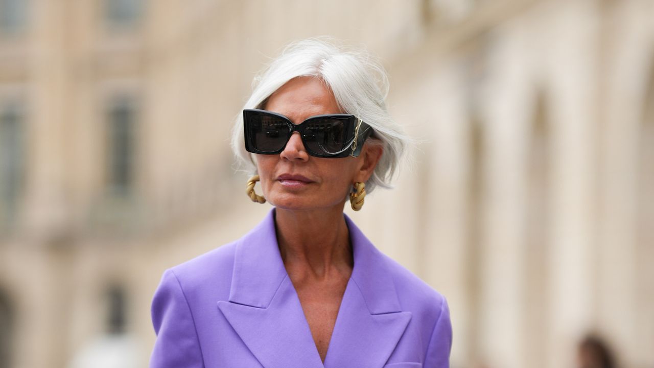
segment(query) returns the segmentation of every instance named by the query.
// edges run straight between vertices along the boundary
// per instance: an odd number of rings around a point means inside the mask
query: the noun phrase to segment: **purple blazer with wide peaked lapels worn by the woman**
[[[449,367],[445,298],[345,215],[354,268],[324,365],[277,248],[275,210],[243,238],[169,268],[150,368]]]

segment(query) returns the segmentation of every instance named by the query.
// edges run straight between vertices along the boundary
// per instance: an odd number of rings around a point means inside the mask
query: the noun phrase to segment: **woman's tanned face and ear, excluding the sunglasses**
[[[288,117],[294,124],[308,117],[341,113],[334,94],[314,77],[288,81],[267,100],[264,109]],[[372,174],[381,146],[364,145],[361,155],[345,158],[310,156],[295,132],[279,155],[254,155],[264,197],[286,210],[339,208],[352,185]]]

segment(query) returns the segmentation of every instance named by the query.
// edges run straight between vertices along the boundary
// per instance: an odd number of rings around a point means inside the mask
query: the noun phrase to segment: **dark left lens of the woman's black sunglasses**
[[[250,145],[262,152],[276,152],[284,148],[288,133],[284,119],[266,114],[250,114],[247,119],[247,138]]]

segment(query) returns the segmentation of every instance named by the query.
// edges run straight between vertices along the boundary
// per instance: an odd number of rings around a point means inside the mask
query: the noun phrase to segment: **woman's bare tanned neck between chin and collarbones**
[[[275,209],[277,244],[288,274],[324,280],[332,272],[347,276],[354,259],[342,208],[292,211]]]

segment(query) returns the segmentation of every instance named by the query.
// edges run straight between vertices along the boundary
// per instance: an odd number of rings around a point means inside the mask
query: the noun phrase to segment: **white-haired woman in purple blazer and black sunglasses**
[[[381,85],[381,87],[379,85]],[[288,46],[258,79],[232,146],[273,209],[243,238],[166,270],[150,367],[448,367],[445,299],[344,215],[388,186],[405,146],[366,54]],[[259,181],[263,196],[254,193]]]

